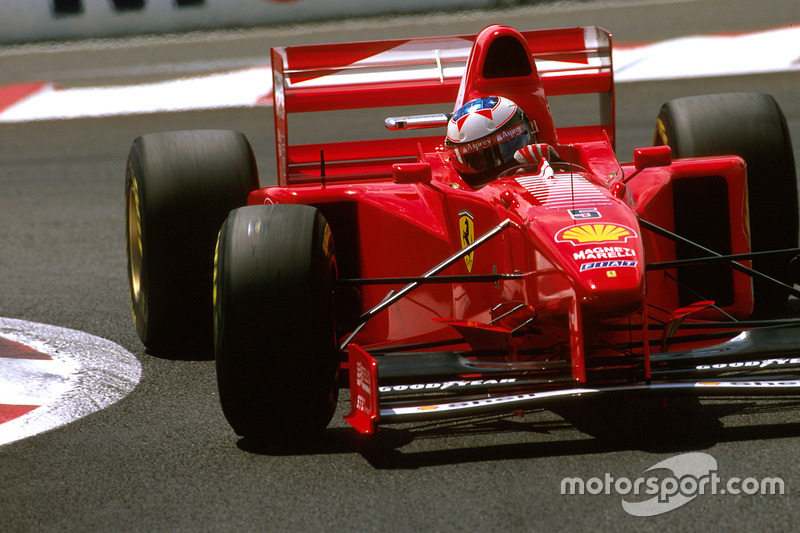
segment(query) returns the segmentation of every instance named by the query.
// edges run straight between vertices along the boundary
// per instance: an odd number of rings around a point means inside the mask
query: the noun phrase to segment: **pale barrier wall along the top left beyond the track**
[[[481,7],[491,0],[0,0],[0,42],[255,26]]]

